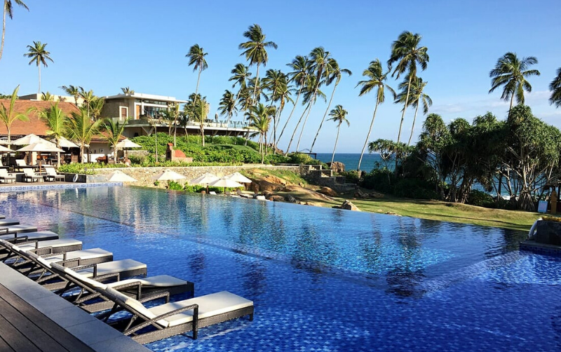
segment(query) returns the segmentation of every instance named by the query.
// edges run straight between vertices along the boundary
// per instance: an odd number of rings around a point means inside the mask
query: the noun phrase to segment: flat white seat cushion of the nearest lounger
[[[253,302],[249,299],[234,295],[228,291],[222,291],[212,293],[211,295],[185,299],[180,302],[162,304],[161,306],[155,306],[154,308],[149,309],[149,311],[156,314],[156,316],[159,316],[163,313],[167,313],[168,311],[180,309],[184,306],[190,306],[191,304],[198,304],[198,318],[203,319],[252,306]],[[193,311],[185,311],[184,313],[165,318],[165,320],[168,322],[168,326],[188,323],[193,320]]]

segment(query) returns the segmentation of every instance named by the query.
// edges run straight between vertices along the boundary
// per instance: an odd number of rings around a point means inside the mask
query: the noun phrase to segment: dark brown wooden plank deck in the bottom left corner
[[[94,350],[0,284],[0,351]]]

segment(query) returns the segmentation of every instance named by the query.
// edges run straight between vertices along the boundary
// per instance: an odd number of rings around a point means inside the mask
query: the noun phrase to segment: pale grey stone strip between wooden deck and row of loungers
[[[4,263],[0,283],[95,351],[151,351]]]

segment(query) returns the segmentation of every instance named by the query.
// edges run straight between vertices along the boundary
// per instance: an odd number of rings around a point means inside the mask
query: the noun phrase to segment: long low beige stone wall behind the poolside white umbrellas
[[[87,175],[86,182],[107,182],[109,180],[110,175],[115,170],[120,170],[126,175],[133,177],[137,182],[133,184],[135,186],[153,186],[154,180],[151,178],[155,175],[158,175],[160,172],[164,170],[172,170],[177,172],[180,175],[184,175],[187,177],[187,180],[193,180],[196,177],[203,175],[205,172],[210,172],[218,177],[222,177],[224,175],[229,175],[231,173],[245,170],[245,169],[272,169],[272,170],[288,170],[295,172],[302,177],[306,176],[308,173],[307,165],[283,165],[283,166],[273,166],[273,165],[261,165],[261,164],[245,164],[245,165],[238,165],[238,166],[187,166],[187,167],[177,167],[177,168],[106,168],[106,169],[96,169],[96,175]],[[67,177],[68,178],[68,177]]]

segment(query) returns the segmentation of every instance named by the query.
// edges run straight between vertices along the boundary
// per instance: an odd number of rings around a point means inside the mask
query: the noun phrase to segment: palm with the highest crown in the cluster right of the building
[[[248,39],[241,43],[238,48],[243,50],[241,55],[245,55],[245,60],[250,62],[250,66],[257,65],[255,78],[259,79],[259,65],[266,66],[269,61],[266,48],[277,48],[273,41],[265,41],[265,34],[259,25],[250,25],[247,31],[243,32],[243,36]],[[257,81],[259,83],[259,81]],[[257,99],[257,84],[253,88],[253,104]]]

